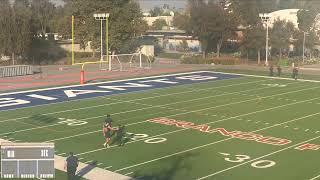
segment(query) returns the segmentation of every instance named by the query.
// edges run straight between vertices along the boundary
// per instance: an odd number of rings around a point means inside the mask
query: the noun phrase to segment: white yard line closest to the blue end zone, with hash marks
[[[237,83],[237,84],[218,86],[218,87],[212,87],[212,88],[203,88],[203,89],[197,89],[197,90],[192,90],[192,91],[183,91],[183,92],[178,92],[178,93],[162,94],[162,95],[157,95],[157,96],[150,96],[150,97],[144,97],[144,98],[139,98],[139,99],[128,100],[127,102],[134,102],[134,101],[140,101],[140,100],[145,100],[145,99],[153,99],[153,98],[164,97],[164,96],[178,95],[178,94],[184,94],[184,93],[189,93],[189,92],[208,91],[208,90],[219,89],[219,88],[224,88],[224,87],[238,86],[238,85],[251,84],[251,83],[259,83],[259,82],[262,82],[262,81],[267,81],[267,80],[250,81],[250,82],[245,82],[245,83]],[[208,82],[206,82],[206,83],[208,83]],[[198,83],[198,84],[200,84],[200,83]],[[186,85],[182,85],[182,86],[189,86],[189,85],[190,84],[186,84]],[[167,87],[167,88],[169,88],[169,87]],[[172,88],[172,87],[170,87],[170,88]],[[165,88],[162,88],[162,89],[165,89]],[[141,92],[141,91],[139,91],[139,92]],[[102,97],[104,97],[104,96],[102,96]],[[51,114],[58,114],[58,113],[64,113],[64,112],[72,112],[72,111],[91,109],[91,108],[102,107],[102,106],[110,106],[110,105],[121,104],[121,103],[122,102],[120,102],[120,103],[119,102],[115,102],[115,103],[110,103],[110,104],[100,104],[100,105],[82,107],[82,108],[77,108],[77,109],[68,109],[68,110],[63,110],[63,111],[55,111],[55,112],[51,112],[51,113],[45,113],[45,114],[42,114],[42,115],[51,115]],[[26,119],[26,118],[30,118],[30,116],[24,116],[24,117],[14,118],[14,119],[7,119],[7,120],[0,121],[0,123],[7,122],[7,121],[16,121],[16,120],[21,120],[21,119]]]

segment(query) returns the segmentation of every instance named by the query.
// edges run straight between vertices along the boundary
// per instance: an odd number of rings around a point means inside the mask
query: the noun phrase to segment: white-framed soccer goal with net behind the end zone
[[[104,58],[105,59],[105,58]],[[135,71],[151,68],[150,57],[142,53],[109,55],[109,71]]]

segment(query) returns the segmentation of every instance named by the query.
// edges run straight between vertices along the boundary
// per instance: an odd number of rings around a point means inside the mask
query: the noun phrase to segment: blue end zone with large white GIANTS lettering
[[[197,71],[91,83],[86,85],[62,86],[47,89],[3,93],[0,94],[0,111],[236,77],[240,76],[214,73],[211,71]]]

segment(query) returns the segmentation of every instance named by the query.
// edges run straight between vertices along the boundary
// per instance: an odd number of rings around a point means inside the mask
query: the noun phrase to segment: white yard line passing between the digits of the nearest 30
[[[319,114],[319,113],[317,113],[317,114]],[[198,180],[205,179],[205,178],[208,178],[208,177],[211,177],[211,176],[214,176],[214,175],[217,175],[217,174],[223,173],[223,172],[225,172],[225,171],[228,171],[228,170],[231,170],[231,169],[237,168],[237,167],[239,167],[239,166],[242,166],[242,165],[248,164],[248,163],[250,163],[250,162],[253,162],[253,161],[259,160],[259,159],[261,159],[261,158],[265,158],[265,157],[268,157],[268,156],[271,156],[271,155],[277,154],[277,153],[279,153],[279,152],[282,152],[282,151],[285,151],[285,150],[288,150],[288,149],[291,149],[291,148],[294,148],[294,147],[298,147],[298,146],[300,146],[300,145],[302,145],[302,144],[308,143],[308,142],[313,141],[313,140],[316,140],[316,139],[318,139],[318,138],[320,138],[320,136],[317,136],[317,137],[314,137],[314,138],[308,139],[308,140],[306,140],[306,141],[303,141],[303,142],[300,142],[300,143],[297,143],[297,144],[291,145],[291,146],[289,146],[289,147],[286,147],[286,148],[283,148],[283,149],[280,149],[280,150],[274,151],[274,152],[272,152],[272,153],[269,153],[269,154],[266,154],[266,155],[263,155],[263,156],[257,157],[257,158],[255,158],[255,159],[249,160],[249,161],[247,161],[247,162],[244,162],[244,163],[241,163],[241,164],[238,164],[238,165],[235,165],[235,166],[232,166],[232,167],[229,167],[229,168],[223,169],[223,170],[221,170],[221,171],[218,171],[218,172],[215,172],[215,173],[209,174],[209,175],[207,175],[207,176],[204,176],[204,177],[198,178]]]

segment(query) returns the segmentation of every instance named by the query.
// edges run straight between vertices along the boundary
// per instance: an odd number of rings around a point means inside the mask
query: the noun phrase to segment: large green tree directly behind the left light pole
[[[87,1],[69,0],[72,14],[75,16],[75,38],[78,39],[82,48],[89,41],[91,47],[100,47],[100,23],[93,18],[94,13],[108,12],[109,17],[109,48],[111,51],[119,52],[127,43],[130,43],[138,29],[142,18],[139,5],[131,0],[107,0]],[[94,53],[93,53],[94,55]]]

